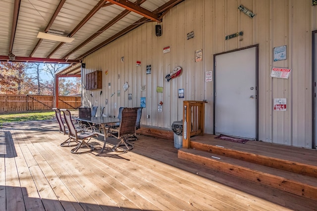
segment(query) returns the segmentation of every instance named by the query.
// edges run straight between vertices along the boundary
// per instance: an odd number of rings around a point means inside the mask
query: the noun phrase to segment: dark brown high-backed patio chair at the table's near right
[[[122,117],[119,127],[109,127],[106,138],[111,136],[119,140],[119,142],[112,147],[115,152],[127,152],[133,149],[133,145],[127,142],[127,138],[135,134],[135,126],[138,115],[138,108],[123,108]],[[117,148],[124,145],[126,148],[118,150]],[[106,140],[104,147],[106,146]]]

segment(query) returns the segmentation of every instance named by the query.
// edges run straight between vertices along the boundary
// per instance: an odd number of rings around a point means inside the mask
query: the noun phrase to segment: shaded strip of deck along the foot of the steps
[[[159,143],[160,145],[170,145],[169,141],[167,140],[155,139],[155,142]],[[289,206],[295,210],[312,210],[313,207],[316,207],[315,201],[313,200],[308,200],[303,197],[298,197],[294,194],[285,193],[278,189],[269,188],[266,185],[258,184],[243,178],[232,177],[230,174],[205,168],[201,165],[183,161],[181,159],[177,160],[177,150],[175,148],[170,149],[169,151],[172,152],[169,154],[167,152],[161,152],[161,150],[159,150],[159,154],[156,154],[154,151],[148,150],[148,140],[144,140],[141,138],[140,141],[135,142],[135,144],[138,145],[138,147],[135,147],[133,152],[151,157],[155,160],[184,169],[188,172],[199,174],[221,184],[226,184],[230,187],[234,187],[235,189],[244,190],[249,194],[264,199],[269,199],[271,202],[278,203],[279,205]],[[175,153],[173,153],[174,151]],[[161,156],[161,153],[163,153],[164,155]],[[177,161],[175,162],[175,160]]]

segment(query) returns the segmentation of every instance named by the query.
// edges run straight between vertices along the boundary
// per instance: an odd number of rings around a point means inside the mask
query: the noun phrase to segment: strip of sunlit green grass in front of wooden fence
[[[54,117],[54,111],[23,111],[19,113],[0,113],[0,124],[29,120],[51,120]]]

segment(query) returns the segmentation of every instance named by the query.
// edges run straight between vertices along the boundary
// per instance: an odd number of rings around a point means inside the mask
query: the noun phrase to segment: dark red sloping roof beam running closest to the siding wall
[[[123,36],[124,34],[130,32],[130,31],[132,31],[133,29],[135,29],[135,28],[141,26],[142,24],[145,23],[146,20],[148,20],[148,18],[145,18],[145,17],[144,17],[144,18],[141,18],[140,20],[134,22],[133,24],[131,24],[130,26],[128,26],[128,27],[125,28],[124,30],[122,30],[122,31],[120,31],[119,33],[113,35],[111,38],[107,39],[106,41],[104,41],[104,42],[102,42],[102,43],[100,43],[100,44],[98,44],[98,45],[96,45],[95,47],[93,47],[92,49],[90,49],[89,51],[87,51],[86,53],[80,55],[77,59],[80,59],[80,60],[81,60],[83,57],[85,57],[85,56],[87,56],[87,55],[93,53],[94,51],[96,51],[96,50],[98,50],[99,48],[105,46],[106,44],[108,44],[108,43],[114,41],[115,39],[117,39],[117,38]]]

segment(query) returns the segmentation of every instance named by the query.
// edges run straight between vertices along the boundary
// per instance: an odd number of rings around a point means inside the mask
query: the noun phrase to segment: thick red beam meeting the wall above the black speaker
[[[146,17],[150,20],[156,21],[156,22],[161,22],[161,20],[159,19],[159,16],[157,14],[155,14],[154,12],[151,12],[150,10],[147,10],[145,8],[143,8],[140,5],[137,5],[131,1],[128,0],[108,0],[109,2],[116,4],[118,6],[121,6],[125,9],[128,9],[132,12],[135,12],[139,15],[142,15],[143,17]]]

